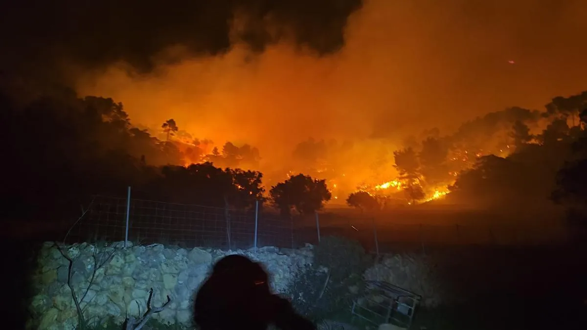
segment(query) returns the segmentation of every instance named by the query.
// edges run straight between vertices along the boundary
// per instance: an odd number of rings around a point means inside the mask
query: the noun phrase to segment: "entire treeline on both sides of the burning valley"
[[[261,201],[283,214],[313,213],[332,197],[325,180],[303,174],[265,194],[262,173],[239,169],[258,163],[256,148],[227,142],[221,150],[208,150],[209,141],[181,131],[173,119],[161,123],[160,136],[153,136],[133,126],[122,103],[112,99],[81,99],[66,90],[18,105],[2,95],[0,107],[5,123],[2,199],[8,205],[4,218],[77,214],[76,207],[93,194],[120,196],[129,185],[137,198],[241,209]],[[556,97],[545,112],[511,108],[490,113],[451,136],[426,132],[420,143],[412,139],[389,156],[403,185],[396,191],[418,203],[431,188],[447,184],[450,198],[490,204],[552,198],[581,210],[587,205],[585,107],[587,92]],[[531,134],[529,126],[540,120],[548,126]],[[501,142],[484,146],[496,132],[507,133]],[[316,163],[334,147],[349,146],[308,140],[296,147],[294,156]],[[500,157],[491,148],[511,152]],[[198,163],[180,165],[194,161]],[[386,173],[388,164],[382,157],[373,170]],[[352,206],[380,207],[374,194],[363,191],[350,197]]]

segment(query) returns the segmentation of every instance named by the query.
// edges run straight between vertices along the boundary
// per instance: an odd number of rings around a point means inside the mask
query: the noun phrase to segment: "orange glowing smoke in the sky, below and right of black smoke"
[[[475,5],[470,5],[475,3]],[[478,3],[478,4],[477,4]],[[587,2],[370,0],[349,20],[346,46],[317,58],[287,42],[251,55],[183,58],[150,76],[124,63],[78,80],[82,95],[123,102],[133,123],[173,118],[194,137],[259,147],[286,161],[314,137],[400,139],[508,106],[542,109],[587,89]],[[558,8],[558,9],[555,9]],[[166,56],[166,55],[161,55]],[[514,60],[515,64],[508,63]]]

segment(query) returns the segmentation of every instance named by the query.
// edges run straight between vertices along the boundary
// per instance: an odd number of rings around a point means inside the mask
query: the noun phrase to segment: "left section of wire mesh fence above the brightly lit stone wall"
[[[128,212],[127,212],[128,210]],[[127,226],[128,214],[128,226]],[[96,196],[66,241],[124,241],[225,249],[293,247],[291,221],[255,210]]]

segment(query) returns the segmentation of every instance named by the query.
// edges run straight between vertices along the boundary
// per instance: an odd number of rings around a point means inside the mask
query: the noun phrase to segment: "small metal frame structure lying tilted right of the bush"
[[[352,317],[357,316],[377,326],[381,323],[393,323],[409,329],[421,296],[385,281],[366,281],[366,285],[365,297],[353,301]],[[379,301],[373,295],[377,291]],[[363,312],[378,320],[370,319]]]

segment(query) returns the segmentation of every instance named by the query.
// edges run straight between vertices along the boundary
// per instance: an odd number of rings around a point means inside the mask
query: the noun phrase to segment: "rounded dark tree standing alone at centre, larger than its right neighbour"
[[[302,173],[280,182],[269,190],[272,203],[284,215],[291,215],[292,208],[299,214],[312,214],[321,210],[323,203],[332,197],[326,180],[312,179]]]

